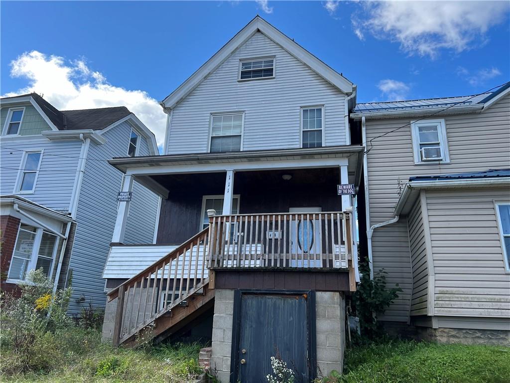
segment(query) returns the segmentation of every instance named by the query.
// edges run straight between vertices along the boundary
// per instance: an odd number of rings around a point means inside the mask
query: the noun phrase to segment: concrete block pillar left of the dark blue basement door
[[[230,381],[234,290],[218,289],[214,293],[214,319],[211,372],[222,383]]]

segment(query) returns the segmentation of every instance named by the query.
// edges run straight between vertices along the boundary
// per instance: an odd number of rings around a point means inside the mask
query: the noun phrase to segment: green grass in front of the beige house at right
[[[344,383],[507,383],[510,348],[393,341],[348,349]]]

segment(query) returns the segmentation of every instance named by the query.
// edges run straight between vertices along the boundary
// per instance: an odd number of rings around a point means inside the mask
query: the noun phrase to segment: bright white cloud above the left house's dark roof
[[[158,101],[143,90],[108,84],[83,59],[66,62],[59,56],[32,51],[11,62],[11,76],[25,78],[29,84],[4,97],[34,91],[59,110],[125,106],[156,135],[158,146],[163,145],[166,115]]]

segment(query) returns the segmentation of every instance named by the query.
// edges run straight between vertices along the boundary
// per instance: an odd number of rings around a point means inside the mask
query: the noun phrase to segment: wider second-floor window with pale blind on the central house
[[[212,115],[211,153],[239,152],[243,131],[243,114]]]

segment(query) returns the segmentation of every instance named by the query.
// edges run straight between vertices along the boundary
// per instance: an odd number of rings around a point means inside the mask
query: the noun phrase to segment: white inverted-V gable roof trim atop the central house
[[[242,44],[255,33],[261,32],[269,39],[282,46],[289,54],[309,66],[324,80],[334,85],[342,92],[350,94],[354,84],[326,65],[301,45],[274,28],[270,23],[257,15],[243,29],[241,29],[230,41],[216,52],[205,64],[200,66],[184,83],[168,95],[160,104],[163,108],[173,109],[193,89],[206,79],[218,66],[230,57]]]

